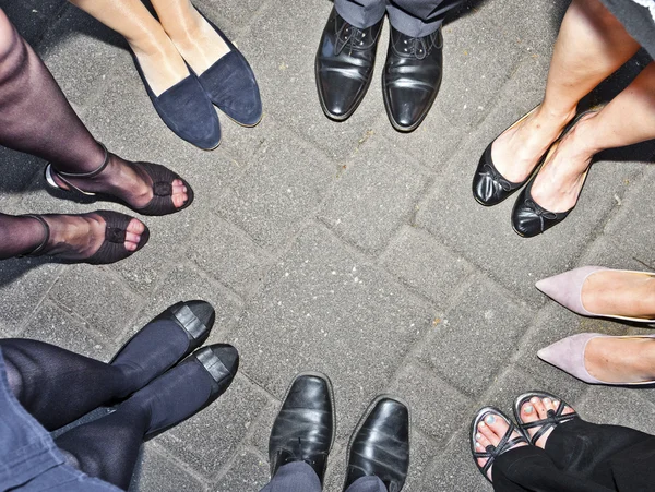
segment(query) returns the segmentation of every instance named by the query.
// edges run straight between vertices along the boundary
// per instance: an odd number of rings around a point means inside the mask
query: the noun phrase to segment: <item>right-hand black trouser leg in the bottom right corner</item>
[[[634,429],[575,419],[552,431],[545,451],[558,468],[605,487],[639,491],[655,483],[655,436]]]

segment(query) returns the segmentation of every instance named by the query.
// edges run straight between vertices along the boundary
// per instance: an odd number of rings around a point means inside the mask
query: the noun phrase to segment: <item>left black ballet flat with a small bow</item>
[[[538,106],[537,106],[538,107]],[[510,127],[504,129],[500,134],[502,135],[508,130],[517,125],[521,121],[532,115],[537,107],[533,108],[529,112],[522,116],[519,120],[513,122]],[[496,142],[498,137],[493,140]],[[475,170],[475,176],[473,177],[473,196],[474,199],[484,206],[493,206],[498,205],[500,202],[505,200],[516,190],[521,189],[532,177],[535,169],[538,169],[541,163],[544,163],[544,157],[547,152],[541,156],[539,163],[535,166],[533,171],[520,182],[512,182],[503,178],[503,176],[498,171],[496,166],[493,165],[493,159],[491,158],[491,146],[493,145],[491,142],[487,145],[487,148],[483,153],[480,160],[478,161],[477,169]]]

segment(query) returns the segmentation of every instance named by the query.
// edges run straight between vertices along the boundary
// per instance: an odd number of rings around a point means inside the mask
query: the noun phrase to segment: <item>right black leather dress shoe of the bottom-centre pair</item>
[[[400,492],[409,468],[409,409],[388,396],[377,398],[350,437],[344,491],[361,477],[378,477]]]

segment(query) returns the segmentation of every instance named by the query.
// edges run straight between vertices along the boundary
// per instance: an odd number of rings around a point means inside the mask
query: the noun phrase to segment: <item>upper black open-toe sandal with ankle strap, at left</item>
[[[97,169],[95,169],[91,172],[63,172],[63,171],[56,170],[51,164],[48,164],[48,166],[46,166],[46,171],[45,171],[46,181],[48,182],[48,184],[51,188],[55,188],[58,190],[63,190],[63,191],[69,191],[69,192],[78,192],[80,194],[83,194],[84,196],[97,196],[97,197],[102,197],[103,200],[106,200],[108,202],[120,203],[120,204],[127,206],[128,208],[131,208],[134,212],[142,214],[142,215],[162,216],[162,215],[175,214],[176,212],[183,211],[189,205],[191,205],[191,202],[193,202],[193,190],[191,189],[191,185],[187,181],[184,181],[178,173],[171,171],[167,167],[162,166],[159,164],[152,164],[152,163],[131,163],[131,161],[126,160],[126,164],[128,166],[136,166],[136,167],[143,169],[147,173],[147,176],[150,176],[151,180],[153,181],[153,185],[152,185],[153,199],[147,203],[147,205],[145,205],[141,208],[136,208],[136,207],[130,205],[124,200],[118,199],[117,196],[114,196],[114,195],[110,195],[107,193],[93,193],[90,191],[83,191],[80,188],[75,187],[73,183],[71,183],[69,181],[69,179],[71,179],[71,178],[93,178],[94,176],[97,176],[100,172],[103,172],[105,170],[105,168],[107,167],[107,165],[109,164],[109,152],[107,151],[107,147],[105,147],[105,145],[103,145],[100,142],[98,142],[98,144],[100,144],[100,146],[105,151],[105,161],[100,165],[100,167],[98,167]],[[67,190],[66,188],[61,188],[59,184],[57,184],[57,181],[55,181],[55,177],[57,177],[61,181],[63,181],[70,189]],[[187,196],[188,196],[187,202],[179,208],[176,207],[175,204],[172,203],[172,181],[176,179],[181,180],[182,183],[184,184],[184,187],[187,187]]]

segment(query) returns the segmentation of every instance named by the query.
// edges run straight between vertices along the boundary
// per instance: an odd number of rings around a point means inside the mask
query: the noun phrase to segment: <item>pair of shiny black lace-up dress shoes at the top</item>
[[[332,10],[314,65],[319,100],[329,118],[346,120],[364,99],[373,75],[383,21],[358,28]],[[386,115],[396,130],[415,130],[432,107],[441,86],[442,46],[441,28],[412,37],[391,26],[382,93]]]

